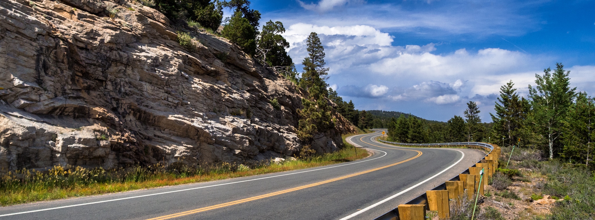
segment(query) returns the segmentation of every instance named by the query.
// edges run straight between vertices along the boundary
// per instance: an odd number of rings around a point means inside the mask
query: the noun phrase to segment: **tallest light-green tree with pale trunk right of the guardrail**
[[[536,127],[538,135],[547,142],[549,158],[555,157],[561,149],[563,120],[566,111],[572,105],[576,88],[570,88],[568,75],[562,63],[556,63],[556,70],[544,69],[543,76],[536,76],[536,87],[529,85],[532,112],[530,122]]]

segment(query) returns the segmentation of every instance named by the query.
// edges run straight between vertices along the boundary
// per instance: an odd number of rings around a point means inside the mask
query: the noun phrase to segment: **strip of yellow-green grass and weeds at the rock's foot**
[[[0,205],[201,183],[355,161],[369,156],[367,151],[355,151],[355,148],[345,141],[346,136],[356,134],[344,135],[344,147],[339,151],[278,163],[266,161],[259,164],[223,163],[196,166],[174,163],[146,167],[136,165],[118,170],[55,166],[45,172],[11,171],[0,174]]]

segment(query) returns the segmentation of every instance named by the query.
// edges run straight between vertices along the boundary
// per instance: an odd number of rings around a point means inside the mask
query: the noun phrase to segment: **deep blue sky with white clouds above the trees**
[[[446,121],[477,101],[490,122],[499,88],[521,95],[562,62],[571,85],[595,96],[595,1],[252,1],[283,22],[300,68],[305,39],[325,47],[328,84],[360,110]]]

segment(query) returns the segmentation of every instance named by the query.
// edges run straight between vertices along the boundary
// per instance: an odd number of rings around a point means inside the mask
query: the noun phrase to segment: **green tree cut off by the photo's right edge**
[[[562,149],[563,158],[584,163],[587,167],[593,161],[592,140],[595,138],[595,100],[586,93],[578,93],[577,101],[568,109],[563,122]]]

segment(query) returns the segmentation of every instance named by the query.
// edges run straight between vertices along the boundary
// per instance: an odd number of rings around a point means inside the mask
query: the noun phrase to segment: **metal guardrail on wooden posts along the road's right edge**
[[[406,143],[398,143],[398,142],[390,142],[390,141],[383,141],[383,140],[378,140],[381,142],[386,142],[386,143],[390,143],[390,144],[397,144],[397,145],[405,145],[405,146],[456,146],[456,145],[474,145],[474,146],[481,146],[484,148],[489,149],[490,152],[488,152],[488,154],[491,153],[491,151],[493,151],[494,146],[490,145],[490,144],[486,144],[486,143],[481,143],[481,142],[453,142],[453,143],[436,143],[436,144],[406,144]],[[488,155],[486,154],[486,155]],[[485,157],[484,157],[485,158]],[[482,160],[484,159],[482,158]],[[478,162],[481,162],[481,160],[479,160]],[[475,165],[472,165],[471,167],[475,167]],[[470,174],[469,173],[469,169],[463,171],[461,174]],[[459,175],[451,178],[449,181],[459,181],[461,179],[459,179]],[[446,189],[446,183],[442,183],[437,187],[434,187],[434,189],[431,190],[445,190]],[[418,204],[418,205],[428,205],[428,196],[424,193],[421,196],[416,197],[415,199],[410,200],[409,202],[405,203],[405,204]],[[374,220],[398,220],[399,219],[399,209],[394,208],[392,211],[385,213],[384,215],[378,216],[377,218],[375,218]]]

